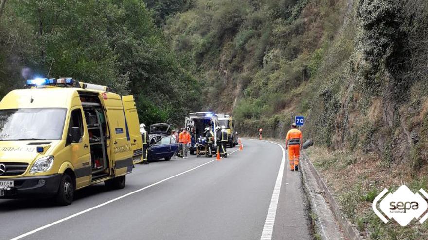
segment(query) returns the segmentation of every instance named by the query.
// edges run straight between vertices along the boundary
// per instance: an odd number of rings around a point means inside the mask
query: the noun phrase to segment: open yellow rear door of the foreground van
[[[122,102],[124,105],[129,136],[131,137],[131,148],[134,153],[132,160],[134,164],[137,164],[143,161],[143,140],[140,134],[140,121],[138,120],[134,96],[123,96]]]

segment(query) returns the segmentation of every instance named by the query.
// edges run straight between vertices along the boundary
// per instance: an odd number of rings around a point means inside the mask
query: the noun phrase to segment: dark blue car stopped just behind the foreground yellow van
[[[172,156],[178,152],[178,143],[171,136],[153,138],[150,140],[148,160],[165,159],[171,160]]]

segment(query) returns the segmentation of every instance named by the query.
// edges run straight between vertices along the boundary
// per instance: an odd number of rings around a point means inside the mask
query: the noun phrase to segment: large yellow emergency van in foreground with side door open
[[[133,96],[71,78],[27,80],[0,102],[0,198],[52,196],[104,182],[125,187],[142,161]]]

